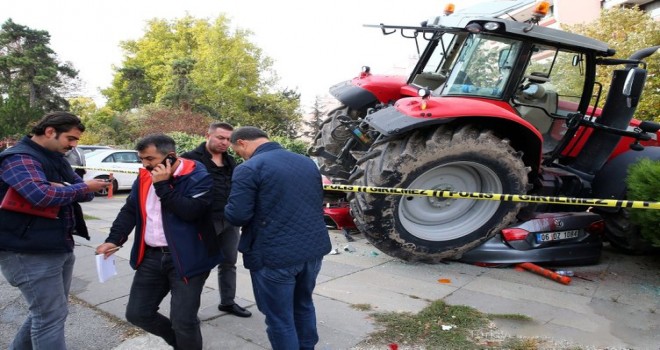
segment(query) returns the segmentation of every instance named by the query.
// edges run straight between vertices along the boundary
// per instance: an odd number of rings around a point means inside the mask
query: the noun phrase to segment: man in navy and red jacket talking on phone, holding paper
[[[169,136],[147,135],[136,148],[144,168],[96,253],[112,255],[135,228],[126,319],[175,349],[202,349],[200,295],[221,260],[215,235],[204,227],[213,180],[200,163],[177,159]],[[158,306],[169,292],[168,319]]]

